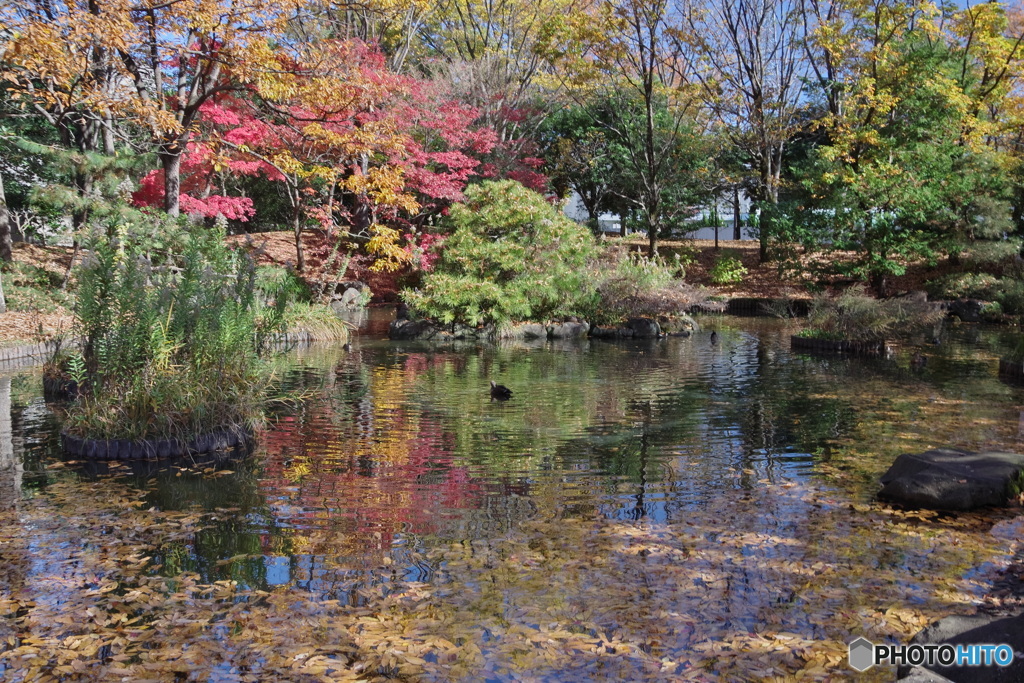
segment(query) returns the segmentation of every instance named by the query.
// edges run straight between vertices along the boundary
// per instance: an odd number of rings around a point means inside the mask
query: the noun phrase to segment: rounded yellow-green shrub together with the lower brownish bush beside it
[[[578,315],[607,325],[686,312],[705,300],[667,262],[601,249],[585,225],[517,182],[483,182],[453,207],[453,232],[419,290],[402,297],[440,323],[471,326]]]

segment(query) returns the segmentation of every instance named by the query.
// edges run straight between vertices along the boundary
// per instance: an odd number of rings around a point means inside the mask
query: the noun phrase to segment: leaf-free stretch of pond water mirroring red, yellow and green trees
[[[787,537],[820,506],[766,487],[799,483],[843,505],[868,500],[903,451],[1024,447],[1024,394],[994,372],[1012,343],[1001,331],[950,331],[914,370],[903,349],[878,359],[793,353],[786,323],[713,325],[714,345],[706,332],[503,346],[360,337],[350,351],[295,349],[280,374],[307,399],[281,409],[252,456],[78,476],[115,474],[146,488],[148,505],[216,512],[194,544],[163,551],[169,575],[353,600],[370,569],[433,581],[425,549],[498,539],[529,520],[682,524],[727,501],[741,529],[706,533]],[[490,380],[512,400],[490,400]],[[63,476],[37,382],[0,378],[0,505]],[[865,553],[878,565],[908,562],[876,541]],[[752,562],[765,552],[752,546]]]

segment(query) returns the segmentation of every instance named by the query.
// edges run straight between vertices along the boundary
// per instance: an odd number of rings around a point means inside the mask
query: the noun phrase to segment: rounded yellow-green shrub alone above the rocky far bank
[[[543,319],[577,314],[593,298],[590,230],[515,181],[469,187],[445,226],[435,268],[419,291],[402,292],[421,315],[474,326]]]

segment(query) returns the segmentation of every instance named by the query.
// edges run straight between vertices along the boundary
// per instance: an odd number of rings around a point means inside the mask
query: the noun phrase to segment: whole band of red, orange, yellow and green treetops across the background
[[[300,265],[318,227],[398,267],[403,236],[503,177],[597,191],[592,217],[629,214],[651,254],[742,189],[763,258],[859,233],[876,279],[982,239],[982,214],[1024,223],[1024,22],[1001,3],[13,0],[0,24],[4,118],[69,151],[152,155],[128,173],[136,202],[280,223]],[[94,174],[66,175],[93,193]]]

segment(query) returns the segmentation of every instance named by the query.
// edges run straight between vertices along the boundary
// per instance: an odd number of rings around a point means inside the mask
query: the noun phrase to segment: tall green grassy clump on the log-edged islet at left
[[[130,225],[96,230],[79,267],[71,364],[84,388],[66,429],[96,439],[194,438],[264,419],[264,355],[285,325],[284,290],[258,292],[251,257],[193,226],[155,257]]]

